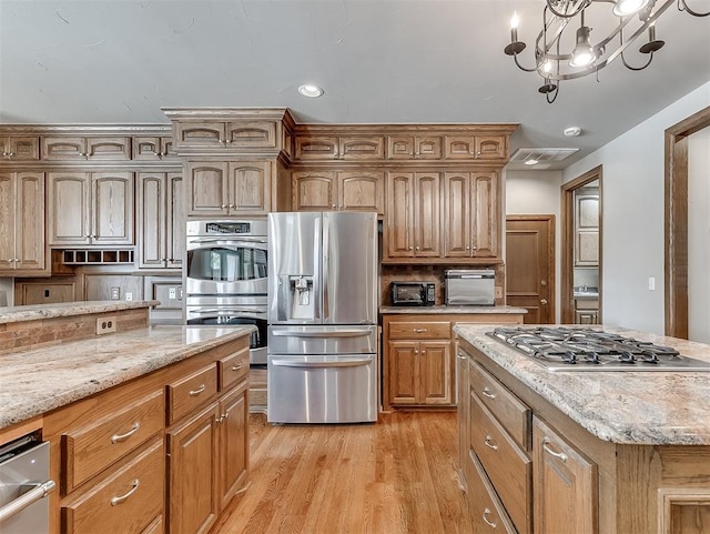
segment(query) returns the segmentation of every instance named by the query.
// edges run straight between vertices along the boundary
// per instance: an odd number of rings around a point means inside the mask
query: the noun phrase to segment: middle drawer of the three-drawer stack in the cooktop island
[[[470,446],[520,534],[530,532],[532,461],[470,394]]]

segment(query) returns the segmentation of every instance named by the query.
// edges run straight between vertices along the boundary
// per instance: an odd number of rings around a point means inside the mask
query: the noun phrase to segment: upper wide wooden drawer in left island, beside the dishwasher
[[[164,414],[165,397],[158,391],[131,403],[126,410],[63,434],[65,491],[72,491],[160,432]]]

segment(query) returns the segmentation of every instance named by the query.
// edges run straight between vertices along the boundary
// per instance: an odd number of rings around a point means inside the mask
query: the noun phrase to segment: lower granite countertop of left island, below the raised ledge
[[[254,326],[152,326],[0,354],[0,429],[185,360]]]

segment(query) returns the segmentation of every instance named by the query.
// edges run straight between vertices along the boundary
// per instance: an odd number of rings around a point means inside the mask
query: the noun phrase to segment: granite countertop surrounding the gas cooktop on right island
[[[673,346],[686,356],[710,362],[710,345],[600,328]],[[486,336],[489,330],[464,324],[454,328],[460,337],[600,440],[638,445],[710,445],[710,372],[551,373]]]

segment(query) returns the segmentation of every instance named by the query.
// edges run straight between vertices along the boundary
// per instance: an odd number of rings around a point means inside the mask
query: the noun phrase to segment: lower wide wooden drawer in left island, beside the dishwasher
[[[62,532],[145,532],[163,514],[164,464],[163,437],[160,436],[126,465],[92,485],[87,492],[62,503]]]

